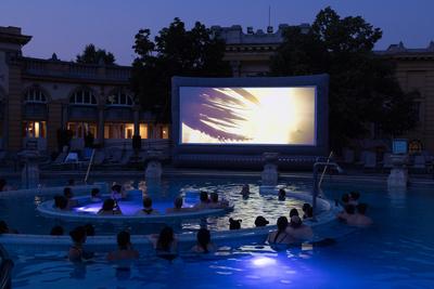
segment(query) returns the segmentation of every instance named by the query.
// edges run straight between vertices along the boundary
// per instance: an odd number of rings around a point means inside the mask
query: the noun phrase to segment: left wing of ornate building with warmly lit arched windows
[[[131,67],[24,57],[30,39],[0,27],[0,149],[17,152],[33,140],[54,152],[61,129],[73,132],[73,149],[84,147],[87,132],[100,146],[130,147],[135,134],[144,143],[168,140],[169,127],[155,123],[129,91]]]

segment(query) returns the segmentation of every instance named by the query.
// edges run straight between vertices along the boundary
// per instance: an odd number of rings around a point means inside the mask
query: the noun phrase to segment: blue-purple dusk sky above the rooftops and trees
[[[188,27],[242,25],[266,29],[268,6],[271,25],[311,23],[320,9],[331,5],[341,16],[361,15],[383,29],[375,49],[403,41],[408,48],[425,48],[434,40],[432,0],[0,0],[0,26],[18,26],[33,36],[24,55],[49,58],[53,52],[74,60],[87,43],[115,54],[118,64],[133,60],[133,36],[140,28],[155,35],[174,17]]]

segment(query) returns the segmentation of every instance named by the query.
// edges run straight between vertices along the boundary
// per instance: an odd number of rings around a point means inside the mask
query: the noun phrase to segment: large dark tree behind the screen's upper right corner
[[[382,37],[360,16],[321,10],[308,32],[291,26],[271,60],[271,75],[330,75],[329,126],[333,148],[366,135],[369,123],[396,135],[416,123],[414,93],[404,93],[393,63],[372,51]]]

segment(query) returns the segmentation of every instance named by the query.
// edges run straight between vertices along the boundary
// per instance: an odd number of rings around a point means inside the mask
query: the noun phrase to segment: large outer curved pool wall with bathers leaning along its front
[[[76,194],[89,194],[90,189],[93,187],[100,187],[101,191],[106,192],[105,183],[97,183],[94,185],[84,185],[74,186],[74,192]],[[39,189],[39,194],[55,195],[63,189],[62,187],[50,187]],[[24,196],[35,196],[35,189],[21,189],[7,192],[8,197],[24,195]],[[31,195],[33,194],[33,195]],[[307,193],[288,193],[288,197],[298,198],[305,201],[311,201],[311,195]],[[5,197],[5,195],[2,195]],[[341,210],[341,208],[335,207],[331,201],[327,199],[318,199],[318,209],[321,211],[317,215],[317,220],[307,221],[306,223],[311,225],[311,227],[320,227],[327,223],[335,220],[335,214]],[[276,225],[265,226],[265,227],[253,227],[243,228],[237,231],[219,231],[212,232],[213,242],[217,247],[221,246],[241,246],[246,244],[264,244],[268,233],[276,229]],[[180,234],[178,235],[178,246],[179,249],[189,250],[196,240],[195,234]],[[69,248],[72,241],[69,236],[50,236],[50,235],[27,235],[27,234],[3,234],[0,235],[0,242],[10,252],[29,252],[29,253],[43,253],[47,251],[65,251]],[[146,235],[132,235],[131,242],[135,248],[143,253],[153,253],[154,249],[152,242],[146,237]],[[105,252],[114,250],[116,248],[116,236],[94,236],[88,237],[86,242],[86,248],[97,252]]]

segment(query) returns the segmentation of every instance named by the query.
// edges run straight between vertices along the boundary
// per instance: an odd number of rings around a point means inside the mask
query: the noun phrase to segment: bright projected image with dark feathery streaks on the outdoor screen
[[[181,144],[315,145],[316,88],[180,88]]]

